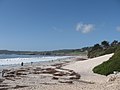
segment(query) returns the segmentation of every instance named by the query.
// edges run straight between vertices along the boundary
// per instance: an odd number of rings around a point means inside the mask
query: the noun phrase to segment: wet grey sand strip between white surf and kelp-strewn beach
[[[80,56],[77,56],[77,57],[80,57]],[[53,64],[71,62],[74,58],[76,57],[72,56],[72,57],[60,58],[60,59],[50,60],[50,61],[39,61],[39,62],[33,62],[32,64],[24,63],[23,66],[21,66],[21,64],[0,65],[0,78],[1,78],[1,72],[3,69],[19,69],[19,68],[26,68],[26,67],[51,66]]]

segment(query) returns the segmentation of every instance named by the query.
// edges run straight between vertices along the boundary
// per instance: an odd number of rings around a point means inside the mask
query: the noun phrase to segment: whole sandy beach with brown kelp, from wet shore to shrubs
[[[0,90],[120,90],[119,75],[103,76],[92,72],[95,66],[112,55],[93,59],[76,56],[32,65],[7,66],[9,73],[1,77]],[[111,77],[115,79],[110,80]]]

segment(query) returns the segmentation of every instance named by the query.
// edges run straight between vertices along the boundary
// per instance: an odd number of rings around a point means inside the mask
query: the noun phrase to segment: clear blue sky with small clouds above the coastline
[[[0,49],[56,50],[120,41],[120,0],[0,0]]]

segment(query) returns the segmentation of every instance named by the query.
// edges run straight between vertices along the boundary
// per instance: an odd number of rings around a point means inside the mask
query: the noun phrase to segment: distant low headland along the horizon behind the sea
[[[65,55],[87,55],[89,47],[84,47],[81,49],[64,49],[64,50],[54,50],[54,51],[8,51],[0,50],[0,54],[18,54],[18,55],[56,55],[56,56],[65,56]]]

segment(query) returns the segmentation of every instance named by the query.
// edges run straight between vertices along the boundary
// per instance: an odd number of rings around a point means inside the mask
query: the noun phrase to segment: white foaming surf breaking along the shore
[[[70,56],[42,56],[42,57],[30,57],[30,58],[6,58],[0,59],[0,65],[21,64],[41,61],[51,61],[57,59],[64,59]]]

